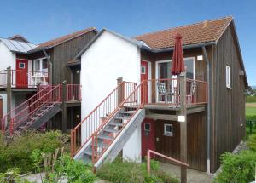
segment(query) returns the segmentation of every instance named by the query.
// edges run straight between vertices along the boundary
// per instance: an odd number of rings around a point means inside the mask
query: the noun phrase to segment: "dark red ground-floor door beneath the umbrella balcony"
[[[147,156],[148,149],[155,151],[154,120],[144,119],[142,123],[142,156]]]

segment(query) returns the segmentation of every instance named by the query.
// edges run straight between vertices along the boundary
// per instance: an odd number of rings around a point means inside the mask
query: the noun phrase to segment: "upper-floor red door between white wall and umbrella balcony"
[[[148,62],[141,60],[141,82],[148,80]],[[142,88],[142,101],[148,103],[148,82],[143,84]]]

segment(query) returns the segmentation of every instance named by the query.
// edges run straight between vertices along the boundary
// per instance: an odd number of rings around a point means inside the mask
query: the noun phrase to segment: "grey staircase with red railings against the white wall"
[[[98,168],[112,161],[145,118],[145,83],[120,83],[95,110],[71,132],[73,158]],[[108,106],[108,107],[106,107]]]

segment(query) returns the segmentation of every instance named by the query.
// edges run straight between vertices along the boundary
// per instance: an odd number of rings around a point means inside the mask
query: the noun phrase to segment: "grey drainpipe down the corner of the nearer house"
[[[211,142],[211,104],[210,104],[210,66],[205,46],[201,47],[205,60],[207,62],[207,174],[211,173],[210,164],[210,142]]]

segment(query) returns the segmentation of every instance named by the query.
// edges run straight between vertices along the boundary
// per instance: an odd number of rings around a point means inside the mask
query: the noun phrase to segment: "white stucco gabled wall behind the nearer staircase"
[[[118,77],[140,82],[140,49],[122,37],[104,31],[81,56],[82,119],[117,86]],[[82,140],[90,136],[84,134],[84,129],[86,125],[82,127]],[[140,135],[140,128],[132,134],[123,149],[125,157],[140,158]]]

